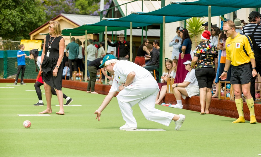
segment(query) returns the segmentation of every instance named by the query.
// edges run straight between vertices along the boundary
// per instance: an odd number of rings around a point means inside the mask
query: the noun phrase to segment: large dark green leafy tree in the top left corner
[[[0,1],[0,37],[4,40],[30,39],[29,33],[46,19],[40,4],[34,0]]]

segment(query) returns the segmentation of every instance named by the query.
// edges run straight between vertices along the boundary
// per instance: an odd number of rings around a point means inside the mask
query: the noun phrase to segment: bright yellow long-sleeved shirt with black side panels
[[[242,33],[232,39],[226,39],[226,59],[231,61],[233,66],[242,65],[250,62],[250,58],[255,59],[254,49],[251,39]]]

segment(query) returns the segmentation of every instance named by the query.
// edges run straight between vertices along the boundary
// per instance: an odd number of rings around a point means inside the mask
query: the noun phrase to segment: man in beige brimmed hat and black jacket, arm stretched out
[[[120,34],[119,41],[116,43],[111,43],[112,41],[108,39],[107,43],[109,46],[116,47],[116,56],[119,60],[129,60],[130,56],[130,42],[125,40],[124,34]]]

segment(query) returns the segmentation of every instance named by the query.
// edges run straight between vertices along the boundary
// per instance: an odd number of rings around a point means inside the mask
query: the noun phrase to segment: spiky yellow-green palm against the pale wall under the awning
[[[190,34],[190,38],[194,37],[195,46],[197,46],[197,36],[204,31],[203,23],[206,21],[200,17],[192,17],[186,20],[186,28],[188,33]]]

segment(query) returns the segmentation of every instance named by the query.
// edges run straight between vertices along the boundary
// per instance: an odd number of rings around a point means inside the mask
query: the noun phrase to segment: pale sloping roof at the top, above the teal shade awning
[[[119,5],[130,2],[129,0],[117,0]],[[126,14],[126,5],[120,6]],[[150,12],[161,8],[161,1],[143,1],[143,12]],[[142,12],[142,1],[134,1],[127,4],[127,15],[133,12]],[[125,15],[126,16],[126,15]]]

